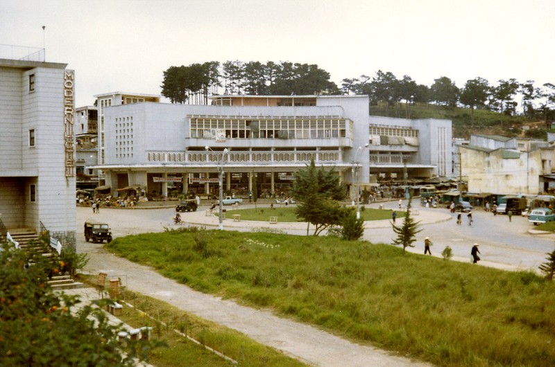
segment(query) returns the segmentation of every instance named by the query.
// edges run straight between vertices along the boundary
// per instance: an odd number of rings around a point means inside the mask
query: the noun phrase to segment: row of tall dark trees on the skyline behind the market
[[[447,76],[430,86],[418,84],[409,75],[397,78],[391,71],[378,70],[373,77],[341,80],[341,88],[330,80],[330,73],[316,64],[298,62],[212,61],[189,66],[170,66],[164,71],[162,96],[173,103],[207,104],[208,97],[229,95],[368,95],[371,105],[404,108],[410,117],[416,103],[434,103],[453,108],[466,106],[472,110],[489,109],[514,115],[520,100],[527,118],[555,119],[555,84],[534,85],[533,80],[518,82],[514,78],[490,84],[484,78],[466,81],[462,87]]]

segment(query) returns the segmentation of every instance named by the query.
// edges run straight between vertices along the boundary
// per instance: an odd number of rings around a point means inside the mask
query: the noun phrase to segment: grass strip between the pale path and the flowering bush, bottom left
[[[124,311],[119,316],[121,321],[133,328],[151,327],[153,337],[167,344],[167,347],[155,348],[151,353],[150,362],[157,367],[233,365],[204,346],[234,359],[239,366],[306,366],[282,352],[256,343],[244,334],[200,319],[154,298],[128,290],[123,291],[120,298],[133,305],[123,307]],[[200,345],[183,335],[195,339]]]

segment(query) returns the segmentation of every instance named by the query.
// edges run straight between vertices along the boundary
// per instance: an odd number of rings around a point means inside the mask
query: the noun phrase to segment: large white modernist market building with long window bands
[[[450,120],[370,116],[368,96],[211,100],[101,107],[103,188],[112,195],[129,187],[162,197],[169,188],[214,193],[223,168],[229,192],[248,193],[256,184],[259,193],[280,193],[311,159],[361,186],[402,181],[404,172],[419,179],[452,172]]]

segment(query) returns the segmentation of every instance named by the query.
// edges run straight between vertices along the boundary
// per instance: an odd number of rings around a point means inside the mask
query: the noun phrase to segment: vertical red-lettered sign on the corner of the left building
[[[64,147],[65,177],[75,176],[74,71],[64,71]]]

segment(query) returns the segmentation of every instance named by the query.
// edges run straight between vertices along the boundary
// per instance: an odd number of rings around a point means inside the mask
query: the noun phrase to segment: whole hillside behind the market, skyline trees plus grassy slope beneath
[[[555,120],[555,85],[514,78],[490,83],[474,78],[458,87],[447,76],[432,85],[409,75],[398,78],[378,70],[374,76],[344,78],[341,86],[316,64],[293,62],[212,61],[170,66],[164,71],[162,96],[172,103],[207,104],[225,95],[368,95],[370,114],[400,118],[448,118],[453,135],[543,137]],[[531,129],[524,131],[523,127]]]

